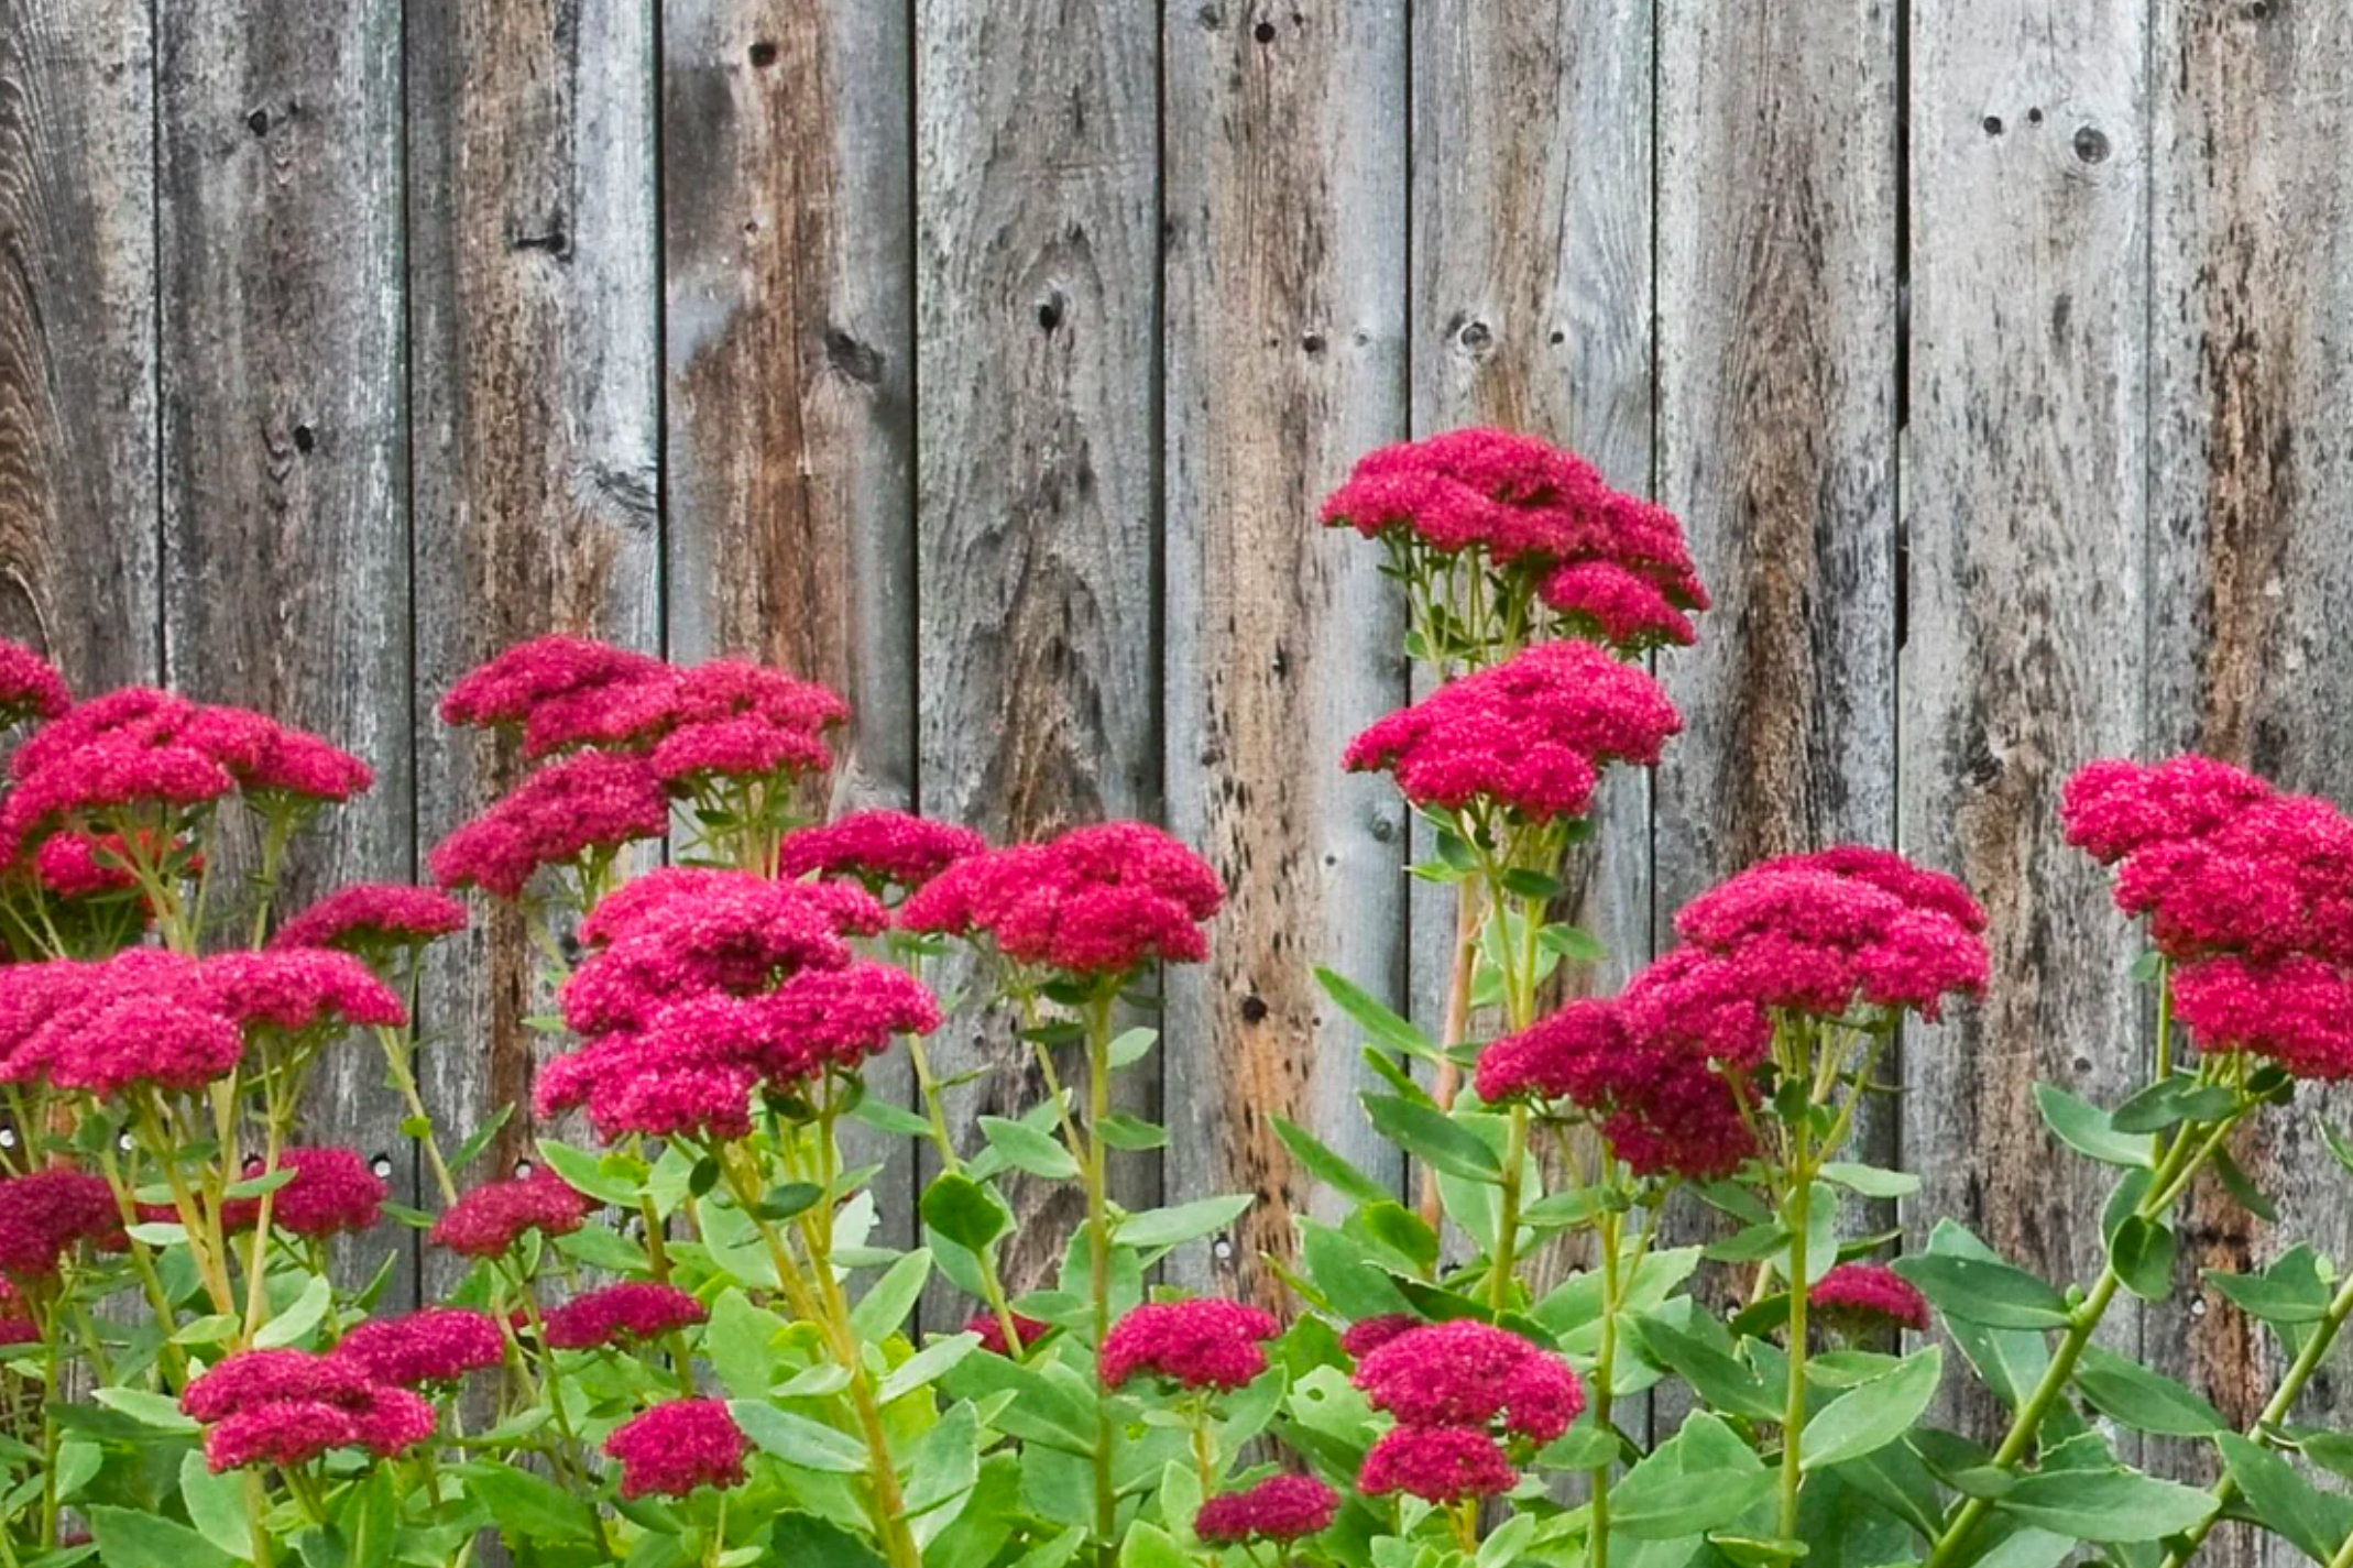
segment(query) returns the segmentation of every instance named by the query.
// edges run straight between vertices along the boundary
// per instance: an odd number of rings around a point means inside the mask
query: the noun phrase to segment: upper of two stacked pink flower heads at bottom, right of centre
[[[1577,1373],[1520,1335],[1454,1319],[1400,1333],[1355,1363],[1374,1410],[1407,1427],[1485,1427],[1548,1443],[1586,1408]]]

